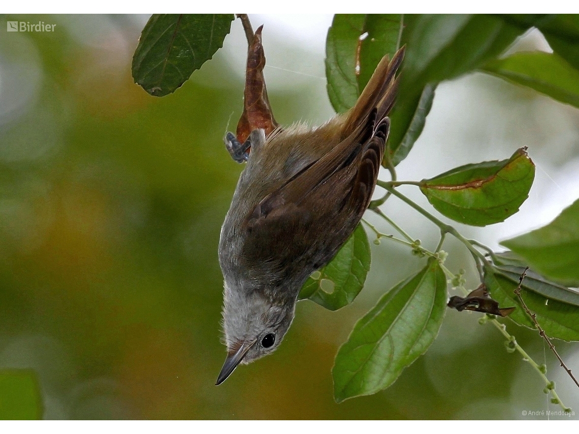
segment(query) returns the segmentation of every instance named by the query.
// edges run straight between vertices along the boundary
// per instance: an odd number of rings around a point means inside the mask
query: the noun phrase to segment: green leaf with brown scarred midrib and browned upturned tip
[[[529,196],[535,165],[525,149],[510,159],[457,167],[420,182],[420,191],[442,215],[471,226],[502,222]]]

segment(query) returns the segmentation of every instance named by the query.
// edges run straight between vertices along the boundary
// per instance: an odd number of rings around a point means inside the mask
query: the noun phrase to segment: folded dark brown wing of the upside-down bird
[[[327,155],[267,195],[245,220],[244,255],[287,273],[325,265],[368,207],[389,130],[373,117]],[[290,264],[291,263],[291,264]]]

